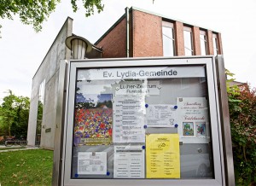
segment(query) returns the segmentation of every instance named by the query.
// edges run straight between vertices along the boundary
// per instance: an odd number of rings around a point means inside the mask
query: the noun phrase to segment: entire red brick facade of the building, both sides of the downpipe
[[[123,15],[102,38],[96,42],[102,47],[102,58],[118,58],[127,56],[126,15]],[[129,11],[129,57],[163,56],[162,21],[168,19],[153,15],[143,10],[131,8]],[[175,55],[185,55],[183,27],[184,23],[170,20],[174,24]],[[194,55],[201,55],[200,30],[198,26],[191,26]],[[207,34],[207,55],[214,55],[212,31],[203,29]],[[218,36],[218,55],[223,54],[221,34]]]

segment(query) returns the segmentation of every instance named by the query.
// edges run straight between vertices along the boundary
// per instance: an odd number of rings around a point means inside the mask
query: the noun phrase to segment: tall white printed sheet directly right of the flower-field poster
[[[115,97],[113,142],[145,142],[144,113],[142,97]]]

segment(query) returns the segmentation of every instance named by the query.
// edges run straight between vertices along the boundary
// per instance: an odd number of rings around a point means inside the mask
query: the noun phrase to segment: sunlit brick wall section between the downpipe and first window
[[[163,56],[162,18],[132,10],[131,57]]]

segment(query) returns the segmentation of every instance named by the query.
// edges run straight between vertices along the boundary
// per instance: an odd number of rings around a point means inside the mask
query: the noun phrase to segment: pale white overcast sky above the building
[[[104,10],[88,18],[82,7],[73,13],[70,1],[62,0],[44,21],[41,32],[23,25],[18,17],[0,20],[0,102],[7,90],[16,96],[31,96],[32,78],[67,16],[73,18],[73,33],[95,43],[126,7],[137,7],[192,25],[221,32],[225,67],[236,81],[256,87],[255,0],[103,0]]]

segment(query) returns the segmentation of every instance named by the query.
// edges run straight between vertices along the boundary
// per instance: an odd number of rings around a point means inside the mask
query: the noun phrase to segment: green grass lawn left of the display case
[[[0,184],[51,185],[53,151],[44,149],[0,153]]]

